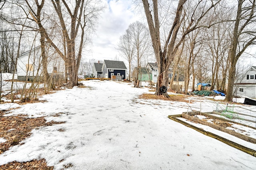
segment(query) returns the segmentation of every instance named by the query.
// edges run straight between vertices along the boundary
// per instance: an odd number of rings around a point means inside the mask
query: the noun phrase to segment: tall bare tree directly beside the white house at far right
[[[230,70],[228,75],[228,90],[226,101],[232,100],[233,85],[236,75],[236,63],[244,51],[256,43],[256,31],[254,29],[256,18],[255,0],[238,0],[237,13],[232,34],[230,48]]]

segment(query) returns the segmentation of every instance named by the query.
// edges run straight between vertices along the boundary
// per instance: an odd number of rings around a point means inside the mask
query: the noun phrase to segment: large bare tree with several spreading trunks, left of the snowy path
[[[54,18],[52,23],[54,25],[51,26],[49,22],[42,23],[40,20],[40,12],[44,6],[44,0],[41,1],[41,4],[35,0],[37,6],[35,11],[32,11],[33,8],[29,4],[30,1],[26,1],[26,3],[30,10],[29,14],[38,24],[42,46],[44,46],[44,39],[46,39],[57,51],[65,61],[68,73],[66,75],[73,82],[74,86],[76,86],[78,83],[78,68],[85,41],[88,40],[90,33],[94,31],[98,14],[102,11],[103,7],[97,5],[92,0],[77,0],[75,2],[51,0],[52,6],[48,4],[50,6],[48,8],[53,8],[57,15],[55,17],[55,14],[52,14],[52,18]],[[52,36],[52,32],[57,33],[61,38],[56,38],[55,35]],[[44,54],[43,51],[42,54]],[[46,60],[44,59],[44,61]]]

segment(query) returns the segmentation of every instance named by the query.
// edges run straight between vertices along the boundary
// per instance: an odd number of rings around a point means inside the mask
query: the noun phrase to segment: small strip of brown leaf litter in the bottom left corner
[[[45,159],[31,160],[28,162],[10,162],[0,166],[1,170],[53,170],[53,166],[47,166]]]

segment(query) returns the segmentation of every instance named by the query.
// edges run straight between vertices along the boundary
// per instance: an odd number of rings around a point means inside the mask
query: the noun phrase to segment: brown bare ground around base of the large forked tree
[[[169,100],[169,101],[176,101],[176,102],[188,102],[188,100],[186,100],[186,96],[184,95],[174,95],[174,94],[171,94],[169,95],[169,98],[165,98],[164,96],[156,96],[154,94],[142,94],[139,96],[139,98],[141,99],[157,99],[157,100]]]

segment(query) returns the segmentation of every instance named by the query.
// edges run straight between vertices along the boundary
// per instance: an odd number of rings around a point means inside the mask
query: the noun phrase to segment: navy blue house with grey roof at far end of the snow
[[[126,79],[126,69],[127,68],[123,61],[104,60],[102,64],[101,77],[115,80],[124,80]]]

